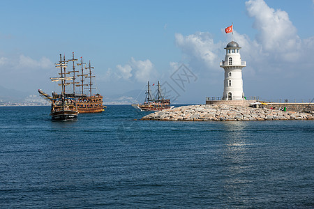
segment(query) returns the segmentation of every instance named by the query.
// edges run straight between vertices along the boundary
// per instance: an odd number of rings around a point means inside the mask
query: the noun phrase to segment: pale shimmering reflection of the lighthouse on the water
[[[223,130],[223,164],[225,176],[223,188],[227,195],[227,204],[241,206],[250,201],[247,191],[252,180],[248,178],[252,172],[251,141],[246,131],[248,123],[239,121],[224,123]]]

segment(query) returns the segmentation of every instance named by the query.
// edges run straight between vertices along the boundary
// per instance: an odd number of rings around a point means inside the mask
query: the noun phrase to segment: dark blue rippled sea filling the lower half
[[[314,208],[314,121],[49,114],[0,107],[0,208]]]

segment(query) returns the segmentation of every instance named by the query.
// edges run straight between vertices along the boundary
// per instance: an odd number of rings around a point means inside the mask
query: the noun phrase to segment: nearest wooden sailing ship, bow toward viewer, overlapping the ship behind
[[[56,68],[60,68],[60,77],[51,77],[52,82],[61,82],[58,85],[61,86],[61,94],[52,93],[52,96],[47,95],[40,89],[38,92],[44,98],[50,100],[51,102],[51,111],[50,116],[52,121],[76,121],[77,120],[77,107],[75,104],[75,99],[69,98],[66,96],[66,83],[67,81],[73,80],[73,77],[66,77],[66,67],[68,61],[65,58],[62,60],[60,54],[60,61],[56,64]]]

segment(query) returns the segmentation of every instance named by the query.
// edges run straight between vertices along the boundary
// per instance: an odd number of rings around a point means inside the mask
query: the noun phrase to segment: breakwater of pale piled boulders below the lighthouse
[[[142,120],[156,121],[272,121],[314,120],[313,114],[227,104],[197,104],[156,111]]]

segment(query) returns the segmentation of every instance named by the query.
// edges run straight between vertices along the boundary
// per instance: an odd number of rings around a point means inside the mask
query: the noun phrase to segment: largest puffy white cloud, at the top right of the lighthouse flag
[[[269,8],[263,0],[247,1],[246,10],[255,19],[253,28],[259,31],[256,41],[265,52],[285,61],[299,57],[301,39],[285,11]]]

